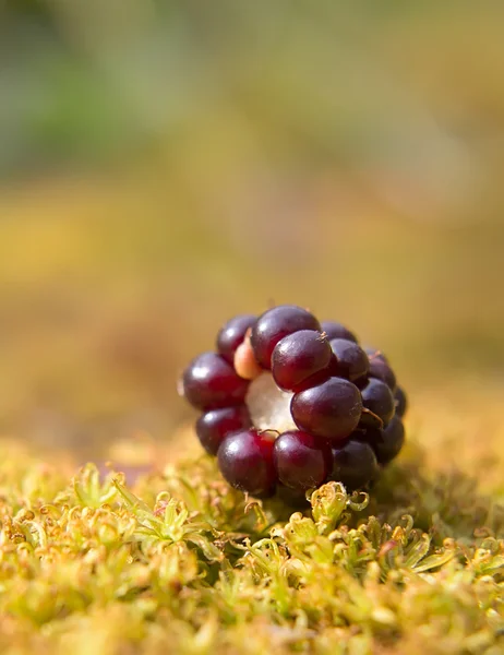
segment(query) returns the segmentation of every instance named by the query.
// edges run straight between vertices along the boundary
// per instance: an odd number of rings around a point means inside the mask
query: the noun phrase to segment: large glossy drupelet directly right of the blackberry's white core
[[[356,429],[362,400],[355,384],[343,378],[329,378],[295,394],[290,410],[299,429],[341,441]]]

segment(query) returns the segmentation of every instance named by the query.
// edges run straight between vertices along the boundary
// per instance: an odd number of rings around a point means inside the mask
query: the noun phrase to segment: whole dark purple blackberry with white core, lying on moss
[[[190,362],[180,391],[236,489],[302,505],[329,479],[365,487],[400,451],[406,394],[385,356],[340,323],[281,305],[232,318],[216,347]]]

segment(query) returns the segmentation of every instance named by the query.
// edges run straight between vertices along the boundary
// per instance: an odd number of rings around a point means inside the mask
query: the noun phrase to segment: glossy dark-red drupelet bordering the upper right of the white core
[[[273,350],[272,373],[280,389],[297,391],[302,383],[327,368],[332,359],[328,341],[314,330],[284,336]]]

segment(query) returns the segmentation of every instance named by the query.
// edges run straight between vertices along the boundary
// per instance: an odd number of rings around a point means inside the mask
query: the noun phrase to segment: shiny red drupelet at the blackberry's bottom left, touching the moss
[[[274,443],[268,432],[259,433],[253,429],[229,434],[217,453],[220,473],[235,489],[257,498],[273,496],[277,481]]]

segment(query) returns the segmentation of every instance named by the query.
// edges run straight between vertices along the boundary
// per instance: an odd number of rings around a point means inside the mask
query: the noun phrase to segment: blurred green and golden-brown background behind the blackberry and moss
[[[503,25],[499,2],[0,0],[1,433],[168,440],[187,361],[273,302],[379,345],[413,406],[502,398]]]

